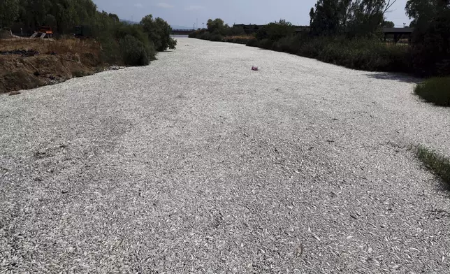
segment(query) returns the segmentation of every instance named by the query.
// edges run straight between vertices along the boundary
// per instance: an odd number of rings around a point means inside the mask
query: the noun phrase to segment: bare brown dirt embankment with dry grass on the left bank
[[[0,40],[0,93],[63,82],[103,70],[101,46],[66,38]]]

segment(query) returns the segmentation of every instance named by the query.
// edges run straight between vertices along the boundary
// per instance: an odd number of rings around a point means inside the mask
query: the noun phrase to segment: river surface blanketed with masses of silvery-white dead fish
[[[0,96],[0,273],[449,273],[414,79],[178,43]]]

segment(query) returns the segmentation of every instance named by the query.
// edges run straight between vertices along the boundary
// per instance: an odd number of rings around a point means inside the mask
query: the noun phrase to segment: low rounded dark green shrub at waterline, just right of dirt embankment
[[[148,48],[136,37],[126,35],[119,41],[124,64],[129,66],[146,66],[150,64]]]

